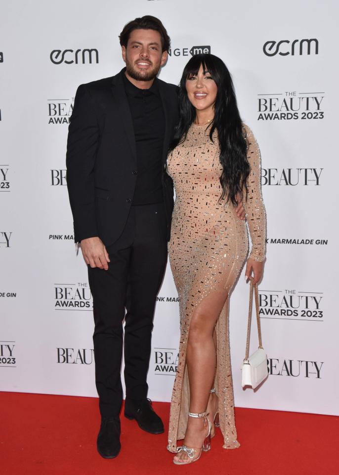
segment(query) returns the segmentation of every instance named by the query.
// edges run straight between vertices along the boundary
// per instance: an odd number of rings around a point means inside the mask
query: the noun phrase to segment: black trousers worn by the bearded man
[[[121,409],[123,342],[126,397],[136,401],[147,397],[154,308],[167,261],[166,237],[164,203],[132,206],[123,234],[107,248],[108,270],[88,266],[95,382],[102,416],[117,416]]]

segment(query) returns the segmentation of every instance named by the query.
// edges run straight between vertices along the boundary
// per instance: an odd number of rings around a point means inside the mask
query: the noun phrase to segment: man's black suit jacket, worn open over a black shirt
[[[132,118],[123,84],[116,76],[79,86],[67,141],[67,186],[76,242],[98,236],[105,245],[124,230],[137,177]],[[167,152],[178,120],[177,87],[156,79],[165,114],[164,203],[168,239],[173,183],[165,172]]]

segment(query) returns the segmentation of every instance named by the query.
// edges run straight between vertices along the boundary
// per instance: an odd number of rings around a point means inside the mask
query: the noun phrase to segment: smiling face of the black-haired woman
[[[211,109],[211,115],[213,114],[217,87],[211,74],[208,71],[205,71],[204,74],[202,65],[200,65],[196,76],[190,76],[186,80],[186,91],[189,100],[196,109],[201,111]]]

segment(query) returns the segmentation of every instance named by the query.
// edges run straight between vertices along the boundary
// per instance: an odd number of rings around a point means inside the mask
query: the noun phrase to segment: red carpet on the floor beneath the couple
[[[122,420],[122,450],[113,460],[96,452],[94,398],[0,392],[0,474],[43,475],[332,475],[338,473],[339,417],[236,409],[236,450],[212,449],[176,467],[167,434],[151,435]],[[169,404],[154,403],[168,425]]]

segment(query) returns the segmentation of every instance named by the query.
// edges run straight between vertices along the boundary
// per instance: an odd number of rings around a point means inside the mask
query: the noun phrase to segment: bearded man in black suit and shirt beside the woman
[[[97,449],[105,458],[120,451],[123,340],[125,416],[147,432],[164,431],[146,379],[173,208],[167,150],[178,120],[177,88],[157,78],[170,45],[161,21],[127,23],[120,44],[126,68],[78,88],[66,157],[74,237],[93,295]]]

